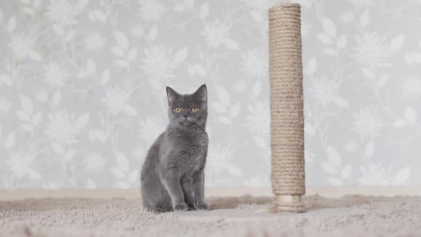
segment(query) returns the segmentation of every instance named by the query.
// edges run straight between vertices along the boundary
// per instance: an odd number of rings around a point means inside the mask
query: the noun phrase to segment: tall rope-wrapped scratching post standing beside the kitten
[[[269,8],[271,85],[271,211],[304,211],[305,194],[301,8]]]

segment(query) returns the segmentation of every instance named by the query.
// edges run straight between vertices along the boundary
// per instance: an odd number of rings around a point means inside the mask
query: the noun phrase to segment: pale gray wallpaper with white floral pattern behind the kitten
[[[272,0],[0,2],[0,188],[136,188],[206,82],[206,185],[270,186]],[[421,1],[302,6],[308,185],[420,184]]]

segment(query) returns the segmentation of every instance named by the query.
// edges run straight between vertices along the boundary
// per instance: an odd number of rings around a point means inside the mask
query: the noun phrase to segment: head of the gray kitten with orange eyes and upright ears
[[[167,87],[170,123],[186,128],[204,128],[208,117],[208,91],[201,85],[193,94],[181,95]]]

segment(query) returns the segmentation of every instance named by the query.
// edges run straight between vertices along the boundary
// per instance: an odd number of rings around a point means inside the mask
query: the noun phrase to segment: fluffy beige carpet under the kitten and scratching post
[[[421,197],[305,197],[306,213],[267,213],[270,198],[209,198],[213,211],[155,215],[139,200],[0,202],[0,236],[421,236]]]

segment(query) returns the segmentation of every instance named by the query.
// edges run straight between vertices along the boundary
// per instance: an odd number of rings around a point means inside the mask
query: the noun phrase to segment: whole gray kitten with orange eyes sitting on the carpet
[[[167,97],[170,124],[147,152],[141,171],[143,207],[156,213],[210,210],[204,201],[206,85],[187,95],[167,87]]]

